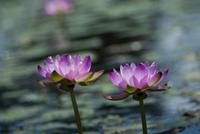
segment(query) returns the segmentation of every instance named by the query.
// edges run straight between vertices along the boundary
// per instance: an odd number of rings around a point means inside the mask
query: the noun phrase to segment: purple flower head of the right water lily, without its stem
[[[166,85],[161,85],[161,82],[167,74],[168,69],[161,72],[156,62],[121,65],[120,72],[114,69],[109,73],[109,78],[123,92],[106,96],[106,99],[119,100],[136,92],[164,90]]]

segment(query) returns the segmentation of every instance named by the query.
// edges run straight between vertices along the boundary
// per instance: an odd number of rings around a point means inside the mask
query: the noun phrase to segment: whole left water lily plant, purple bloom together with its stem
[[[49,56],[44,60],[43,66],[38,66],[38,72],[48,80],[44,84],[54,83],[59,90],[69,92],[74,109],[75,119],[79,134],[83,134],[83,127],[76,102],[74,87],[76,84],[86,86],[96,81],[103,73],[103,70],[91,72],[92,60],[90,56],[81,59],[80,55],[57,55]]]

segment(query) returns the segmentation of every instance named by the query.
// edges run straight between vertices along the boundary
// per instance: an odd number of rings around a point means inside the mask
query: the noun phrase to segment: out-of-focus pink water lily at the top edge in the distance
[[[45,6],[45,12],[50,16],[68,13],[71,12],[72,9],[73,4],[71,0],[49,0]]]

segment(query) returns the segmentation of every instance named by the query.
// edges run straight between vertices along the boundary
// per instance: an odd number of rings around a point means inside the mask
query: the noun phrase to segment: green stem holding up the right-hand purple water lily
[[[142,119],[143,134],[147,134],[147,123],[146,123],[143,99],[139,99],[139,103],[140,103],[140,114]]]

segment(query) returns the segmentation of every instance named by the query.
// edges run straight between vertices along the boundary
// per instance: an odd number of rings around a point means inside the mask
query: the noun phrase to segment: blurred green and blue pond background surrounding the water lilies
[[[145,100],[150,134],[200,133],[199,0],[71,0],[54,15],[49,0],[0,2],[0,134],[77,132],[68,94],[37,83],[36,66],[63,53],[90,55],[106,73],[158,61],[172,88]],[[76,87],[86,134],[141,133],[137,102],[102,97],[113,92],[107,74]]]

